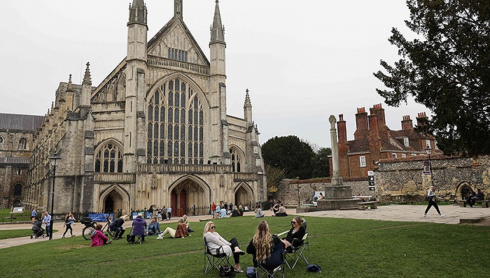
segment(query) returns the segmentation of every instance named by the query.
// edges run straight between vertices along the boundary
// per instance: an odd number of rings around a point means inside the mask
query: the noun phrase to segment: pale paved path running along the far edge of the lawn
[[[385,221],[414,221],[414,222],[431,222],[442,224],[459,224],[459,219],[475,219],[475,218],[490,218],[490,208],[482,207],[459,207],[458,205],[444,205],[440,207],[442,214],[446,214],[445,217],[439,217],[435,209],[432,207],[428,212],[428,217],[423,217],[423,211],[426,209],[422,205],[382,205],[377,210],[327,210],[323,212],[306,212],[300,213],[304,217],[332,217],[332,218],[351,218],[351,219],[373,219],[373,220],[385,220]],[[295,209],[287,209],[288,214],[295,214]],[[245,215],[253,215],[253,212],[246,212]],[[270,217],[272,212],[265,212],[266,217]],[[197,222],[200,219],[210,219],[211,217],[189,217],[189,221]],[[168,223],[176,222],[177,218],[173,218],[170,221],[160,221],[160,226],[168,226]],[[132,221],[125,224],[125,226],[131,226]],[[0,225],[0,231],[3,230],[15,230],[15,229],[29,229],[31,224],[2,224]],[[77,223],[73,227],[73,234],[81,236],[82,228],[84,226]],[[192,226],[191,226],[192,227]],[[53,234],[53,238],[60,239],[63,235],[64,228],[63,223],[56,222],[55,230],[58,230]],[[32,242],[38,242],[47,240],[47,238],[32,239],[31,237],[18,237],[10,238],[6,240],[0,240],[0,249],[18,246],[22,244],[29,244]]]

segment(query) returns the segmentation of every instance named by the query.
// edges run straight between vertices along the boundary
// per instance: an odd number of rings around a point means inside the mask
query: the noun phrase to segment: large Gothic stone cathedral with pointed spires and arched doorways
[[[244,116],[226,113],[225,34],[216,0],[209,60],[174,17],[147,40],[144,0],[133,0],[127,57],[97,87],[61,82],[34,136],[25,206],[54,213],[176,208],[267,199],[248,90]]]

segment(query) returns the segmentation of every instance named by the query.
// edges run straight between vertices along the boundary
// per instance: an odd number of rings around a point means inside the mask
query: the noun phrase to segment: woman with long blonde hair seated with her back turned
[[[246,252],[253,256],[253,265],[265,263],[276,244],[282,244],[279,237],[271,235],[267,221],[260,221],[255,230],[255,235],[253,235],[253,239],[248,244],[248,247],[246,247]]]

